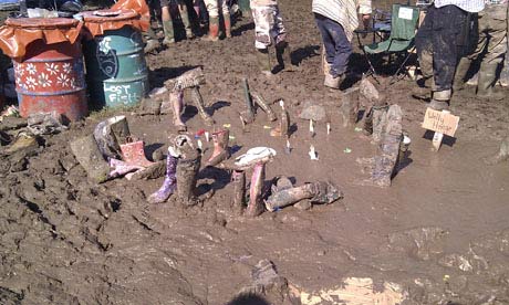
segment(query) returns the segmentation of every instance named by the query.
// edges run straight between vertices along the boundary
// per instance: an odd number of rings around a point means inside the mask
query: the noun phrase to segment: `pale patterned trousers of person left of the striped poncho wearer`
[[[278,6],[252,7],[251,11],[254,20],[254,48],[263,50],[272,42],[278,44],[284,41],[287,30]]]

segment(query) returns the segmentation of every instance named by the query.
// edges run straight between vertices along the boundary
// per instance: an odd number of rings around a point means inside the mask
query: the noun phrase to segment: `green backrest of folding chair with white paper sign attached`
[[[393,4],[391,39],[413,40],[419,20],[417,7]]]

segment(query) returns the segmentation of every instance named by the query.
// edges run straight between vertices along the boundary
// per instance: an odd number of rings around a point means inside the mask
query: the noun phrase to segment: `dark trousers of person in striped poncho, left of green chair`
[[[325,60],[331,65],[331,75],[336,77],[346,72],[349,59],[352,54],[352,44],[346,39],[340,23],[315,13],[314,20],[322,34],[325,46]]]

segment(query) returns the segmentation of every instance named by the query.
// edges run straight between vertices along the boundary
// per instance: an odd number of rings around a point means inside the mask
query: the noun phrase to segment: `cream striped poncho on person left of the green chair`
[[[313,0],[312,4],[314,13],[340,23],[349,41],[359,27],[357,8],[360,13],[371,13],[371,0]]]

